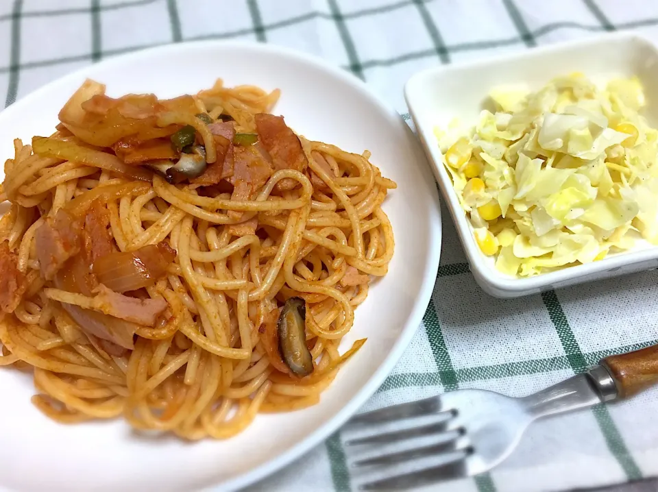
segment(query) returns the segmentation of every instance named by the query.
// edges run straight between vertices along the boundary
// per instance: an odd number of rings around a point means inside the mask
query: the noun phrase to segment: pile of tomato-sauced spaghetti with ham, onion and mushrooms
[[[278,90],[112,99],[86,81],[51,136],[14,140],[0,220],[0,366],[56,421],[227,438],[313,405],[385,275],[395,183],[297,136]]]

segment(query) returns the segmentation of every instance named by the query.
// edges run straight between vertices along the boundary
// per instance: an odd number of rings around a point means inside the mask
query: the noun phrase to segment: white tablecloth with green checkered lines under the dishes
[[[658,42],[658,1],[0,0],[0,97],[9,105],[60,75],[128,51],[240,39],[321,56],[364,79],[409,119],[402,87],[416,71],[616,29]],[[658,341],[655,272],[502,301],[476,286],[447,212],[443,226],[432,302],[367,409],[457,388],[526,395],[602,356]],[[565,491],[657,475],[654,390],[540,421],[491,473],[436,490]],[[349,491],[354,482],[337,433],[253,488]]]

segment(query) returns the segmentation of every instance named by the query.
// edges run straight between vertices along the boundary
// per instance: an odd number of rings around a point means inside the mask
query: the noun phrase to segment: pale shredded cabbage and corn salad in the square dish
[[[489,98],[475,127],[435,133],[468,219],[500,239],[499,271],[538,275],[640,239],[658,245],[658,130],[638,113],[636,77],[600,87],[574,73]]]

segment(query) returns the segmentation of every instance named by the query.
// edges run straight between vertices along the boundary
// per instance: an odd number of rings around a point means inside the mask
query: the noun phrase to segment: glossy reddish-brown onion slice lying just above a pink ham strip
[[[94,262],[93,272],[114,292],[136,291],[155,284],[174,258],[175,251],[167,243],[148,245],[102,256]]]

